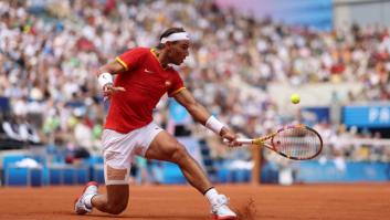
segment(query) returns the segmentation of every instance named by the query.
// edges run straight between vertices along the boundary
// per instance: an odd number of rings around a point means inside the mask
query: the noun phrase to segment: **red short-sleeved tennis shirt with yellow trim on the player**
[[[116,75],[117,92],[110,98],[105,128],[129,133],[152,121],[152,111],[165,93],[172,96],[185,88],[172,67],[162,69],[154,49],[135,48],[116,57],[125,72]]]

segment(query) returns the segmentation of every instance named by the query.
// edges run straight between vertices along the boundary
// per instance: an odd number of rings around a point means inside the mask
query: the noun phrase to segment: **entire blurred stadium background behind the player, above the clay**
[[[389,181],[386,11],[383,0],[0,0],[1,186],[104,182],[108,103],[95,73],[170,27],[192,41],[177,67],[186,86],[242,137],[304,123],[325,142],[310,161],[229,149],[165,96],[155,121],[213,182]],[[131,184],[186,180],[176,165],[137,158]]]

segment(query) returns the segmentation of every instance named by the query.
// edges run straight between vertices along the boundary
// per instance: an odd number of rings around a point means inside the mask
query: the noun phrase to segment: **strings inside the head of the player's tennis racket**
[[[278,133],[273,144],[286,157],[304,159],[314,157],[322,147],[316,133],[307,128],[292,128]]]

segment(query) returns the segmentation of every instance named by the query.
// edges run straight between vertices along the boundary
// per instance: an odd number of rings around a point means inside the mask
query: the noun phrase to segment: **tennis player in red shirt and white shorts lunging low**
[[[152,109],[165,93],[176,98],[207,128],[236,144],[236,135],[210,115],[186,90],[170,64],[180,65],[189,55],[190,38],[182,28],[166,30],[156,49],[135,48],[101,67],[98,82],[110,98],[102,135],[107,192],[97,193],[97,184],[88,182],[74,209],[85,214],[96,208],[103,212],[123,212],[129,198],[130,163],[136,155],[177,164],[186,179],[203,193],[214,219],[236,219],[228,199],[212,187],[205,174],[178,140],[152,122]],[[113,75],[117,74],[115,81]]]

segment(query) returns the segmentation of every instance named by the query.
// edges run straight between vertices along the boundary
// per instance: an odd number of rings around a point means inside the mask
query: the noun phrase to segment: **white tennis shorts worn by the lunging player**
[[[162,130],[154,122],[127,134],[104,129],[102,144],[106,185],[127,185],[135,156],[144,157],[150,143]]]

